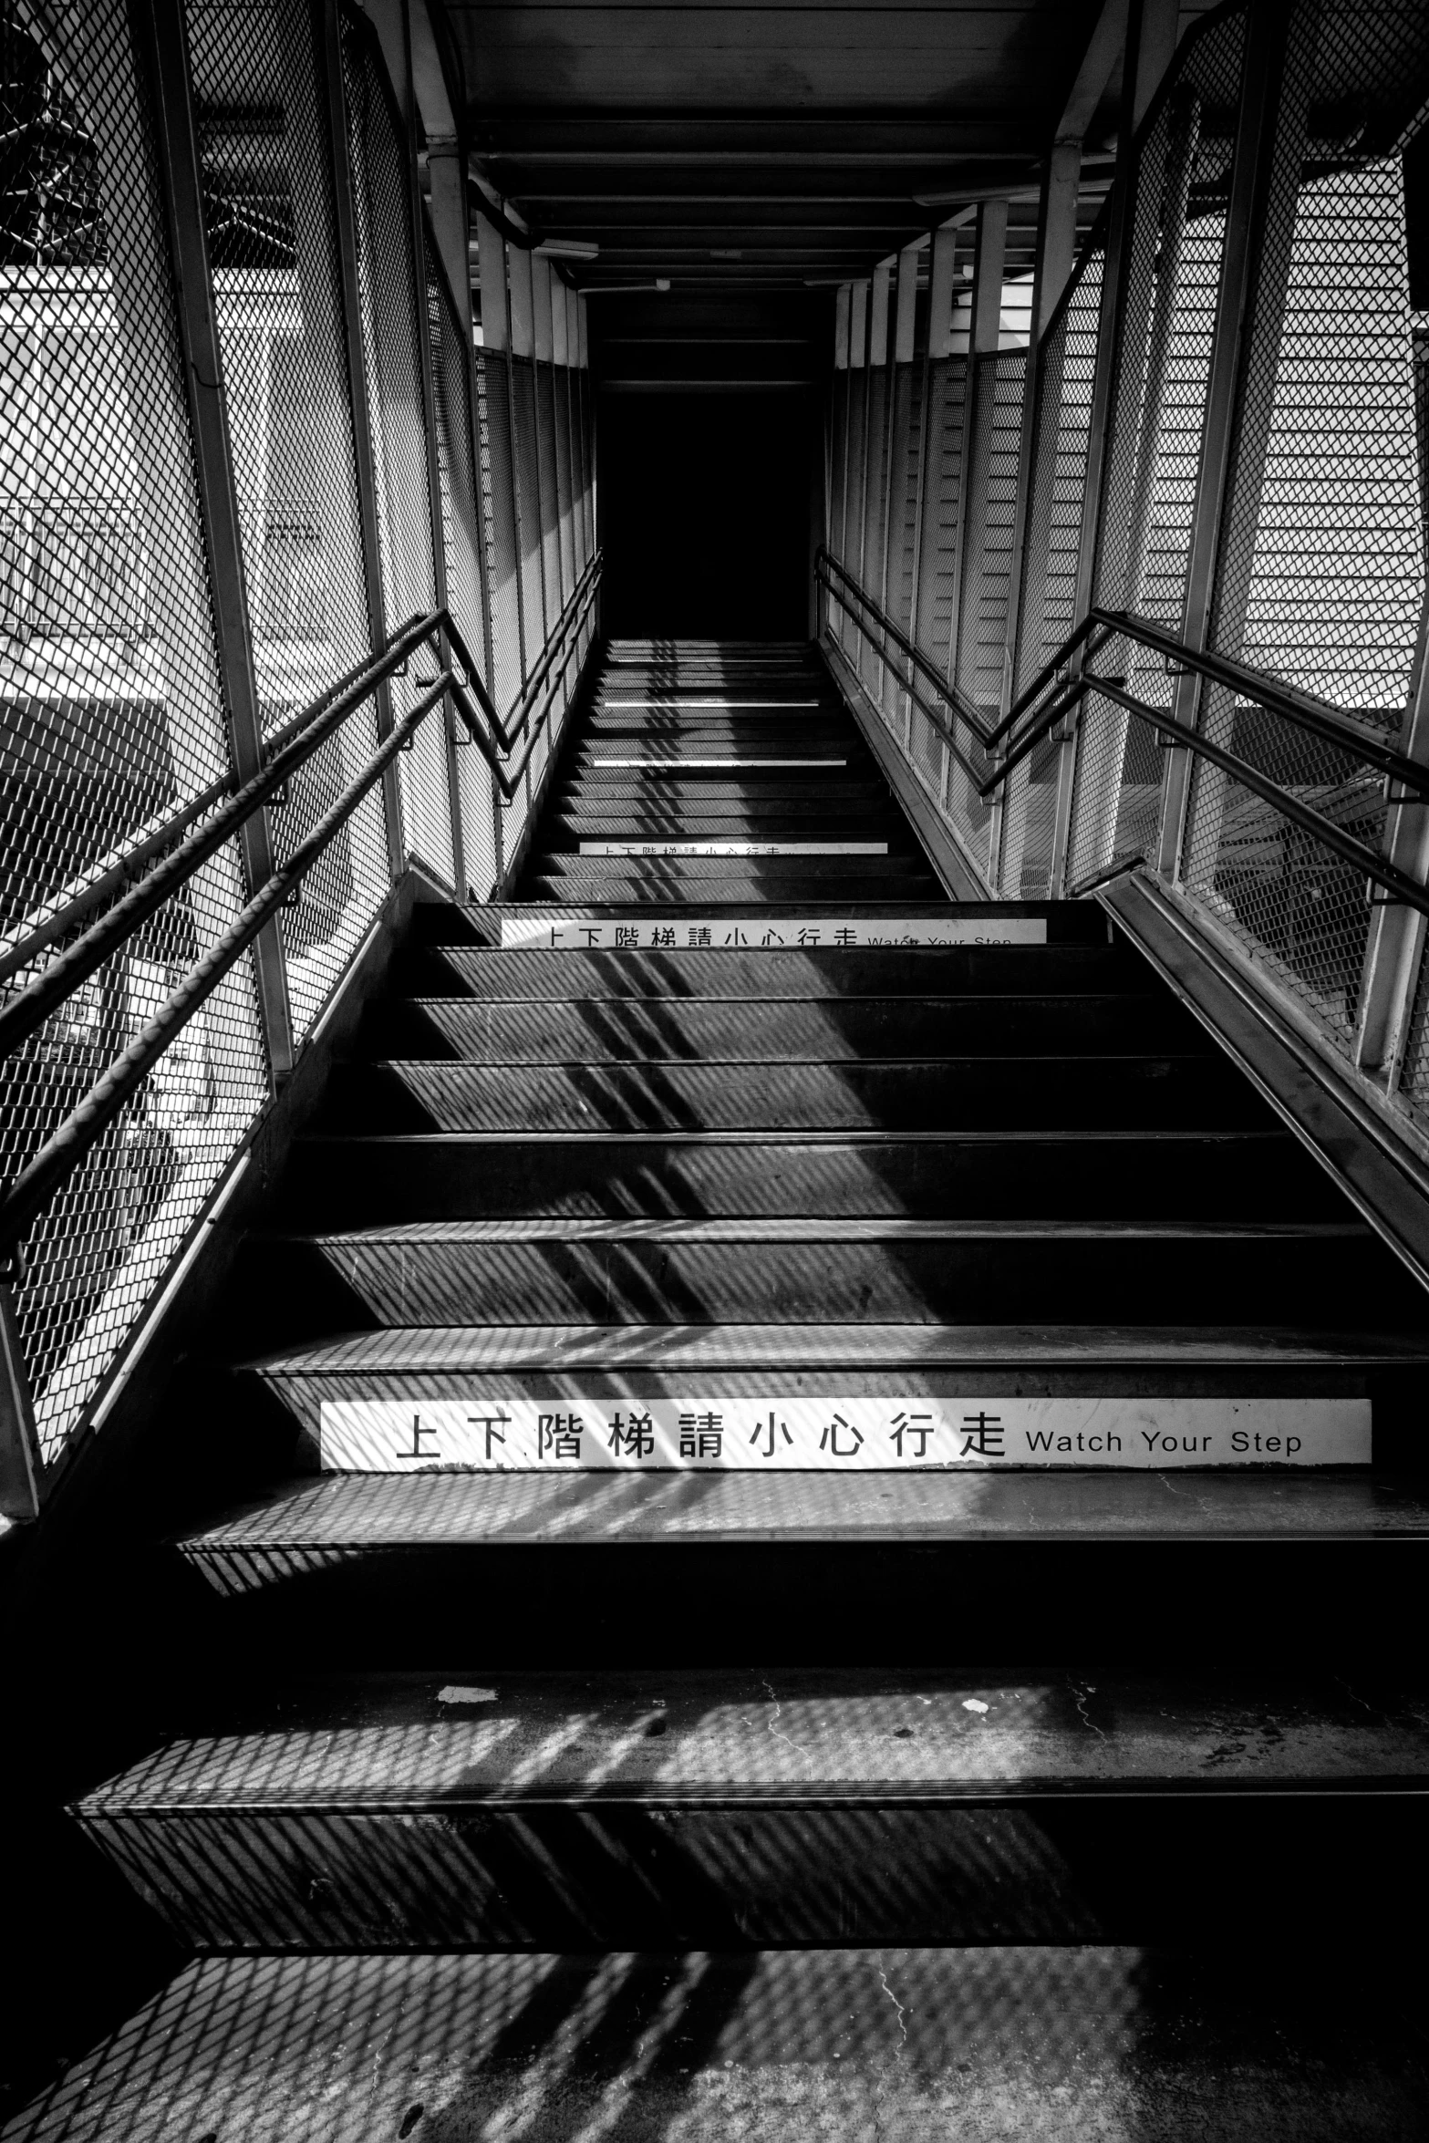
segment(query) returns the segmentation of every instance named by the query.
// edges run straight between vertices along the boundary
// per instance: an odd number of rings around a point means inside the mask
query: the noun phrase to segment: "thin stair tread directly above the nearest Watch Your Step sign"
[[[343,1333],[261,1359],[272,1376],[512,1369],[941,1369],[1056,1363],[1339,1369],[1429,1361],[1429,1333],[1174,1324],[437,1324]]]

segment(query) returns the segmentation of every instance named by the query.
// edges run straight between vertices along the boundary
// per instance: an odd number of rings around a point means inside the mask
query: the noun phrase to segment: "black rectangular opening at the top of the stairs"
[[[602,394],[604,630],[808,634],[810,396]]]

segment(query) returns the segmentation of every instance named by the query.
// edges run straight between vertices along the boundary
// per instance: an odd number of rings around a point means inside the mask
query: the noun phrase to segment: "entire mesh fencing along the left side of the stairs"
[[[514,600],[508,399],[493,411],[435,268],[371,26],[347,9],[332,24],[324,36],[276,0],[154,0],[152,24],[124,0],[0,0],[0,1007],[439,596],[501,707],[540,658],[544,611],[523,643]],[[150,34],[189,96],[178,133]],[[208,274],[216,433],[195,416],[176,244]],[[570,589],[593,546],[593,437],[578,309],[561,304],[570,362],[546,366],[548,474],[531,471],[527,510]],[[223,604],[214,555],[236,559]],[[276,789],[264,868],[311,836],[433,666],[411,658]],[[501,883],[512,814],[480,754],[452,752],[443,711],[300,881],[264,988],[244,954],[28,1230],[9,1286],[45,1466],[268,1102],[272,1020],[287,1063],[403,857],[478,898]],[[234,926],[253,853],[219,844],[11,1050],[4,1181]]]

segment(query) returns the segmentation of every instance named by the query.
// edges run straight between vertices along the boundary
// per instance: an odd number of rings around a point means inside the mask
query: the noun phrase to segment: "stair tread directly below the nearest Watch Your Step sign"
[[[1429,1483],[1371,1472],[300,1474],[189,1556],[583,1543],[1429,1539]]]

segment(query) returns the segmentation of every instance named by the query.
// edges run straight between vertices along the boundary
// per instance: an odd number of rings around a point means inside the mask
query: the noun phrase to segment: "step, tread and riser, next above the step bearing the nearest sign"
[[[1232,1324],[1393,1316],[1414,1284],[1363,1224],[413,1222],[264,1237],[257,1267],[321,1301],[321,1260],[377,1324],[941,1324],[1095,1318]],[[319,1279],[321,1275],[317,1275]],[[341,1316],[341,1312],[339,1312]]]

